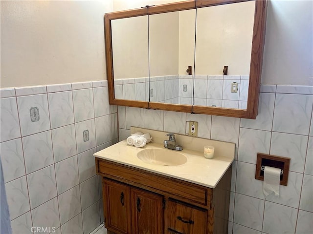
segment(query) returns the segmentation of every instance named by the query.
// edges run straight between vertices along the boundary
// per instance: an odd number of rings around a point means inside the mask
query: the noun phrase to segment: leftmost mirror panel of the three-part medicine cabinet
[[[111,25],[115,98],[148,101],[148,16],[112,20]]]

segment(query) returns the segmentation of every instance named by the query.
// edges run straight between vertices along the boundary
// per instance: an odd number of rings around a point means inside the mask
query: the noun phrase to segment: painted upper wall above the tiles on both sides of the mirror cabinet
[[[1,88],[106,79],[103,14],[168,2],[1,1]],[[263,84],[313,85],[312,9],[269,1]]]

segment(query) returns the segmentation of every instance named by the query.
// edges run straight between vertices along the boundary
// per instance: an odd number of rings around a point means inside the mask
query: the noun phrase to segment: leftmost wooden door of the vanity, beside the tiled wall
[[[131,233],[131,188],[109,179],[103,179],[105,226],[118,234]]]

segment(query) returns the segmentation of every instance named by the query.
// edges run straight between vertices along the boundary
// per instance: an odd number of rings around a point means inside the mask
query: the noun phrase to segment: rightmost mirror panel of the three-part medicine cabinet
[[[194,105],[246,109],[254,10],[255,1],[197,9]]]

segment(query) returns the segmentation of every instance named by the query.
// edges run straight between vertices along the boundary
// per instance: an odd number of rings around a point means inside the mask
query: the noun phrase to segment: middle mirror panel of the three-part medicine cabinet
[[[192,105],[196,9],[149,15],[150,101]]]

